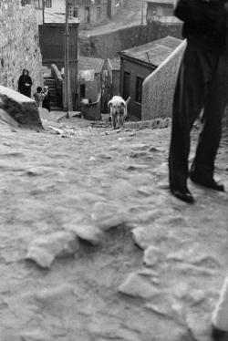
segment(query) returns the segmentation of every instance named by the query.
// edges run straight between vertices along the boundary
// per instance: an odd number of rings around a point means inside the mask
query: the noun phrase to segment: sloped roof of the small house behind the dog
[[[158,67],[163,60],[171,55],[171,52],[174,51],[181,42],[181,39],[166,36],[148,44],[141,45],[140,47],[133,47],[121,51],[120,55],[131,57],[154,67]]]

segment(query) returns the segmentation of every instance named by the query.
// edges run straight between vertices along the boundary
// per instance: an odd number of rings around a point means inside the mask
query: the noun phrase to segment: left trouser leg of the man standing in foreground
[[[172,111],[170,187],[184,189],[189,176],[190,132],[199,116],[217,57],[189,43],[181,61]]]

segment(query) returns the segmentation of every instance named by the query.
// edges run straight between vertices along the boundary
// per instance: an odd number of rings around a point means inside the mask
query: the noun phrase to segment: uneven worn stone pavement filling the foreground
[[[170,128],[43,124],[0,125],[0,341],[209,341],[227,192],[170,195]]]

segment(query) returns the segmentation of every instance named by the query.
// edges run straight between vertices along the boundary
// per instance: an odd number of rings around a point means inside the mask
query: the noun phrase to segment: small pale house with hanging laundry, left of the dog
[[[79,109],[86,119],[101,119],[103,67],[103,59],[78,58]]]

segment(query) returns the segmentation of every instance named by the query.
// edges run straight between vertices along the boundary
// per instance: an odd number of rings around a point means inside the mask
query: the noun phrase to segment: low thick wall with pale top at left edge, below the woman
[[[21,127],[42,129],[35,100],[27,98],[11,88],[0,86],[0,109]]]

